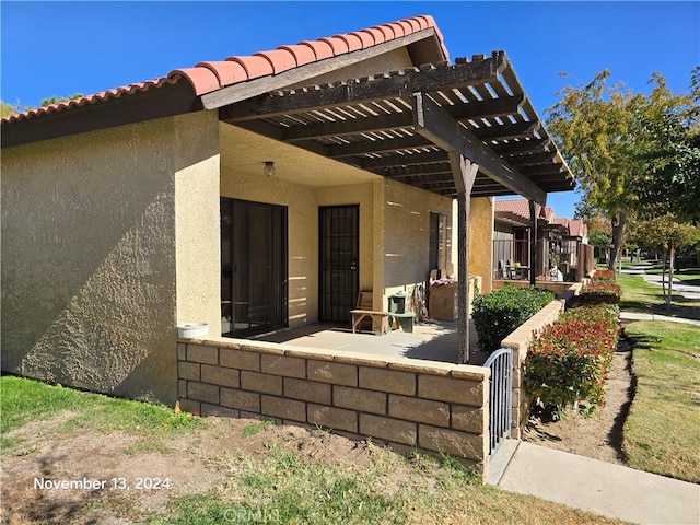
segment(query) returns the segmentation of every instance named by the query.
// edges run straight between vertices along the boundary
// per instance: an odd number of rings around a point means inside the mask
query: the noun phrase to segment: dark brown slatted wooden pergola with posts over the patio
[[[457,199],[459,362],[468,361],[469,197],[522,195],[536,223],[535,202],[574,186],[504,51],[268,92],[221,105],[219,118]]]

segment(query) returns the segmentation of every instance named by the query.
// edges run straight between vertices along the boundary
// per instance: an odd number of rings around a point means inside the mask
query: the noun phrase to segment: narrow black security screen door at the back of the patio
[[[319,320],[351,322],[358,301],[359,207],[319,209],[320,306]]]

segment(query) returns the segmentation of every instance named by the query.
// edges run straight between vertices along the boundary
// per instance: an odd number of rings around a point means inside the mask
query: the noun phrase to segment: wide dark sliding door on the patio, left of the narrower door
[[[224,336],[287,326],[287,208],[221,199],[221,316]]]

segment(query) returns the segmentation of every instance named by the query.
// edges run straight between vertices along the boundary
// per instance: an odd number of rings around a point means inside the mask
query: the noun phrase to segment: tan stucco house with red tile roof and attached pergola
[[[573,183],[503,51],[447,59],[416,16],[3,118],[2,370],[173,402],[178,324],[349,323],[457,250],[490,289],[492,196]]]

